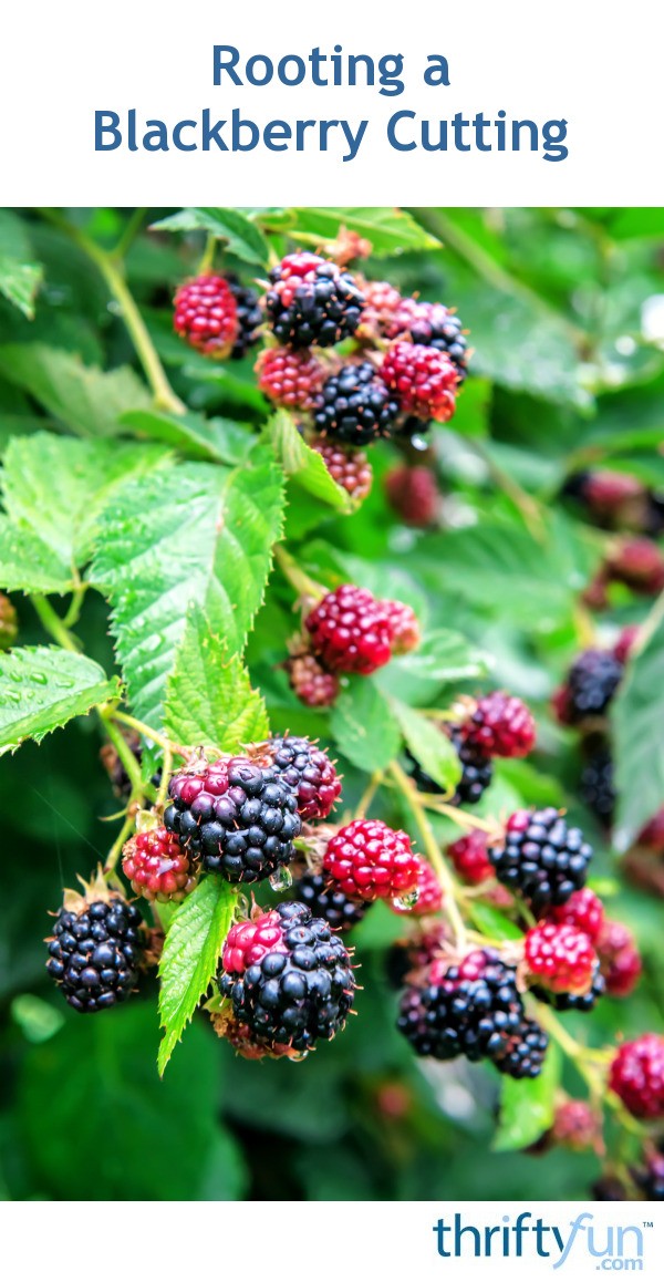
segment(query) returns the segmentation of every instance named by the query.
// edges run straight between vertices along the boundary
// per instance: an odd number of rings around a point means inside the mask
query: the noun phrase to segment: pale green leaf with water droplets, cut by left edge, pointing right
[[[0,755],[115,699],[117,679],[82,654],[56,646],[24,646],[0,654]]]

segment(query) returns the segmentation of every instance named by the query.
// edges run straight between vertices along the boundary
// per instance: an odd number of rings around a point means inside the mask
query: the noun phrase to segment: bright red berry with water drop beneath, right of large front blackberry
[[[419,856],[405,832],[382,819],[354,819],[328,841],[323,872],[350,899],[401,899],[417,888]]]

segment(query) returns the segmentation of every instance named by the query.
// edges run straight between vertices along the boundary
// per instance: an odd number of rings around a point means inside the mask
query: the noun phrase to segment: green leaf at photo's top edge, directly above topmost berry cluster
[[[440,241],[404,209],[296,209],[297,240],[333,241],[341,227],[369,240],[378,258],[414,249],[438,249]],[[301,233],[306,233],[305,237]]]

